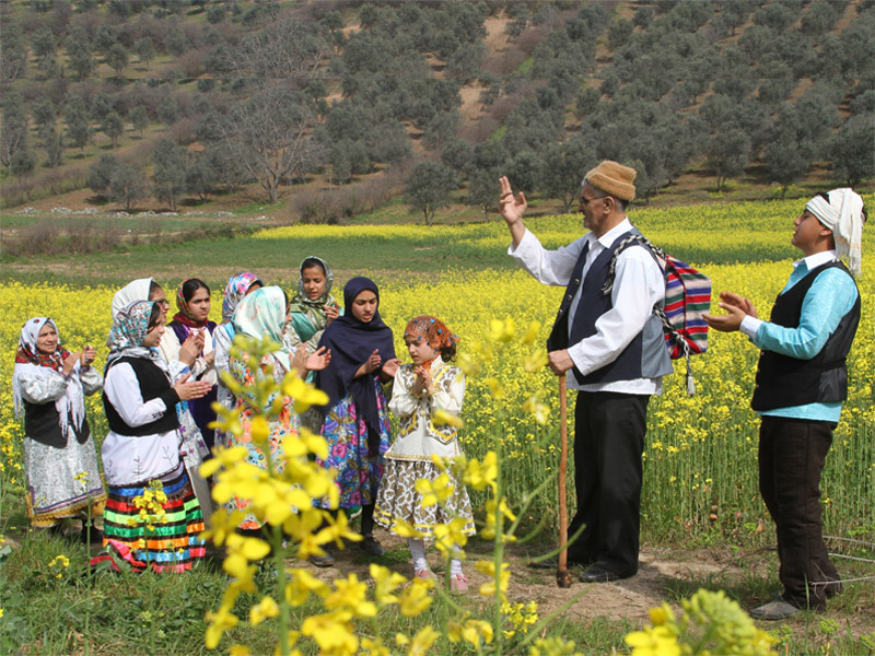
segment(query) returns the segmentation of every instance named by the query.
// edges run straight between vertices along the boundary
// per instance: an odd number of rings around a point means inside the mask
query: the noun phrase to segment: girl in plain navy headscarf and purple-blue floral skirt
[[[337,470],[340,507],[361,506],[362,549],[381,555],[374,539],[374,503],[383,477],[383,454],[389,446],[389,420],[382,383],[398,371],[392,329],[380,317],[380,291],[368,278],[353,278],[343,289],[346,314],[325,329],[319,347],[331,350],[331,363],[318,372],[316,386],[328,395],[322,434]],[[319,563],[317,563],[319,564]],[[325,563],[330,564],[330,561]]]

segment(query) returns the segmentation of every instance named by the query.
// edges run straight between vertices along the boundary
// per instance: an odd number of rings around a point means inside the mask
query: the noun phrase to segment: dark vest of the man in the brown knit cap
[[[570,343],[575,344],[582,339],[596,333],[595,323],[603,314],[614,307],[611,294],[603,294],[602,288],[605,286],[608,276],[608,266],[614,253],[620,243],[632,234],[641,234],[637,229],[623,233],[609,248],[605,248],[586,271],[586,279],[581,281],[584,261],[588,247],[584,247],[574,266],[571,279],[562,297],[562,305],[550,331],[547,341],[547,349],[556,351],[567,349]],[[587,245],[588,246],[588,245]],[[628,247],[642,247],[638,243],[632,243]],[[568,331],[568,313],[571,300],[578,292],[578,288],[583,284],[578,309],[574,313],[574,324],[571,326],[571,336]],[[665,347],[662,321],[656,315],[651,315],[644,328],[634,339],[622,350],[616,360],[606,364],[599,370],[591,372],[585,376],[578,367],[574,367],[574,377],[580,385],[612,383],[616,380],[632,380],[634,378],[656,378],[670,374],[672,360],[668,356],[668,349]]]

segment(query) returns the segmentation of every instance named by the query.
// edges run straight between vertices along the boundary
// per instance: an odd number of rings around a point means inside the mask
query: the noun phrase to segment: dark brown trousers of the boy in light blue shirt
[[[783,596],[800,608],[824,609],[841,590],[820,517],[820,475],[835,427],[763,415],[759,431],[759,490],[778,529]]]

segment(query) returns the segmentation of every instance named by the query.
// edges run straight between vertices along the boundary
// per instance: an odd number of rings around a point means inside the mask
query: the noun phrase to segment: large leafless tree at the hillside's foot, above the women
[[[235,105],[221,122],[221,141],[277,202],[279,186],[313,159],[314,117],[299,93],[275,86]]]

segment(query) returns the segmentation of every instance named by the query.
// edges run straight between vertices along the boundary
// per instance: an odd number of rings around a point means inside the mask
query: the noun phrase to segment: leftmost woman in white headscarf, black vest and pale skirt
[[[85,419],[85,396],[103,386],[91,366],[95,355],[91,345],[79,353],[61,347],[48,317],[27,319],[21,329],[12,398],[15,412],[24,411],[27,516],[34,527],[60,529],[66,518],[88,522],[89,507],[92,516],[100,514],[106,501]]]

